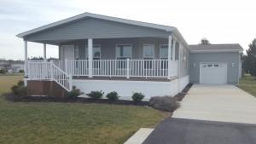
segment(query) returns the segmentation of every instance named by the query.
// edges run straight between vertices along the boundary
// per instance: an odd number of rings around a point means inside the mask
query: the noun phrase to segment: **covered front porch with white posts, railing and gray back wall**
[[[71,78],[168,81],[178,77],[180,44],[170,35],[45,42],[44,61],[26,60],[27,78],[50,78],[46,51],[47,44],[55,43],[59,46],[59,60],[52,64]],[[27,41],[25,49],[27,55]]]

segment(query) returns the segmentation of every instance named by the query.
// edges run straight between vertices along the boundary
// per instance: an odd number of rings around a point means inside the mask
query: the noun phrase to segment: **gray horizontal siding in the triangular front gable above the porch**
[[[32,42],[65,41],[111,37],[167,37],[171,32],[143,26],[133,26],[109,20],[86,18],[25,37]]]

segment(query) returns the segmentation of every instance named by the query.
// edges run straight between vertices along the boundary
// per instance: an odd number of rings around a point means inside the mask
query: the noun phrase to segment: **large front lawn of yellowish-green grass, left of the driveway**
[[[21,76],[0,76],[0,95]],[[10,102],[0,96],[0,143],[124,143],[166,112],[148,107],[59,102]]]

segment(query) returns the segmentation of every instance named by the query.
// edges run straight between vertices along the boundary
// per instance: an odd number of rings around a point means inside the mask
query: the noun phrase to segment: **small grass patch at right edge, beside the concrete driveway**
[[[240,79],[238,87],[247,91],[247,93],[256,97],[256,78],[250,75],[245,75]]]

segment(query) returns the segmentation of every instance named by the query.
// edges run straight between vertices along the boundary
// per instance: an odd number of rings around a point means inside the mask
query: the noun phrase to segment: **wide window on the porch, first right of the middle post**
[[[118,44],[116,45],[116,58],[120,60],[131,59],[131,44]]]

